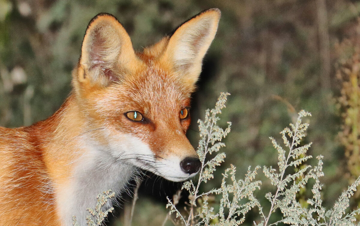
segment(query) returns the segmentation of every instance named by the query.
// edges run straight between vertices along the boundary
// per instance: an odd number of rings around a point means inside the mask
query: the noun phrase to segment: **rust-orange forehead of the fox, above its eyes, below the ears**
[[[107,108],[116,104],[117,110],[139,110],[144,114],[179,110],[190,106],[194,87],[183,82],[174,72],[156,63],[148,63],[134,74],[126,75],[121,81],[104,89],[105,103],[98,106]],[[104,101],[104,98],[98,100]],[[176,114],[177,117],[177,114]]]

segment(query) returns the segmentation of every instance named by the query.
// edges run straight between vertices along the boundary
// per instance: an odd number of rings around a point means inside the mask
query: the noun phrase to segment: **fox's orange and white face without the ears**
[[[190,124],[191,90],[170,73],[148,67],[103,90],[100,95],[107,99],[100,98],[94,105],[91,118],[101,118],[98,127],[104,128],[104,135],[99,140],[107,141],[117,161],[168,180],[185,180],[200,167],[185,136]]]

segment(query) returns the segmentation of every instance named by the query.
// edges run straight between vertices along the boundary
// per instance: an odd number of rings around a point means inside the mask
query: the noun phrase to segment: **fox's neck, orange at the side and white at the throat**
[[[51,165],[46,168],[64,225],[72,225],[73,215],[85,225],[86,208],[95,207],[96,196],[109,189],[119,195],[135,170],[126,160],[114,161],[107,143],[98,142],[106,136],[102,128],[89,125],[85,117],[71,95],[53,116],[26,128],[39,140],[44,164]]]

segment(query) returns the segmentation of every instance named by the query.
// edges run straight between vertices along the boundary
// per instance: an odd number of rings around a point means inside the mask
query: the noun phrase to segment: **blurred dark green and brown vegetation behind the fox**
[[[233,126],[222,149],[225,163],[203,189],[219,186],[230,163],[240,178],[249,165],[276,165],[268,137],[280,142],[279,132],[305,109],[312,113],[306,119],[306,142],[313,142],[308,154],[324,155],[321,182],[325,206],[331,205],[360,175],[360,2],[355,0],[0,0],[0,126],[28,126],[60,107],[96,14],[117,17],[141,51],[208,8],[219,8],[222,17],[193,95],[188,136],[197,146],[196,121],[221,91],[231,93],[222,123]],[[148,176],[133,225],[161,225],[165,197],[181,187]],[[273,189],[268,181],[262,187]],[[122,202],[115,213],[120,217],[109,225],[126,225],[131,198]],[[249,213],[246,223],[256,216]]]

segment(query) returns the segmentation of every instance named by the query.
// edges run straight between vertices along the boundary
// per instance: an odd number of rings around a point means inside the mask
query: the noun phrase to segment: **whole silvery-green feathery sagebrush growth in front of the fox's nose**
[[[235,166],[231,165],[222,174],[220,188],[199,193],[200,184],[213,178],[216,166],[219,166],[225,158],[224,153],[218,153],[206,161],[207,155],[218,152],[220,147],[225,146],[221,139],[230,132],[230,122],[228,122],[229,126],[225,130],[216,125],[220,119],[217,115],[225,107],[228,95],[228,93],[221,93],[215,108],[206,111],[204,121],[198,121],[200,141],[197,151],[202,167],[197,183],[194,184],[190,180],[183,184],[182,189],[190,193],[189,205],[185,208],[185,212],[179,211],[176,208],[176,203],[168,198],[169,214],[175,213],[175,218],[178,219],[178,221],[172,222],[185,226],[235,226],[242,224],[245,221],[246,214],[255,208],[259,215],[252,216],[252,218],[257,219],[253,222],[257,226],[278,225],[279,223],[314,226],[356,225],[355,216],[360,213],[360,209],[348,211],[348,207],[350,197],[354,195],[357,186],[360,184],[360,177],[341,194],[333,208],[327,209],[323,206],[320,193],[323,187],[320,177],[324,176],[322,171],[323,156],[316,157],[318,163],[314,167],[307,163],[307,160],[312,158],[311,155],[306,154],[311,143],[303,145],[301,142],[306,136],[309,124],[303,123],[302,118],[311,116],[311,114],[304,110],[298,113],[295,124],[291,123],[290,127],[280,132],[284,147],[279,145],[273,137],[270,137],[278,152],[276,168],[273,166],[262,167],[264,175],[270,179],[276,190],[275,193],[269,192],[265,195],[270,202],[270,207],[263,207],[254,195],[256,189],[261,189],[261,181],[255,179],[260,166],[256,166],[253,170],[249,167],[244,179],[236,179]],[[300,165],[302,167],[299,167]],[[296,195],[300,189],[305,188],[309,180],[312,180],[311,183],[313,184],[312,197],[307,199],[309,205],[305,207],[296,199]],[[220,207],[217,210],[208,204],[208,198],[212,195],[220,196]],[[271,222],[271,215],[277,210],[280,210],[283,216],[280,220]],[[253,211],[252,213],[256,212]]]

